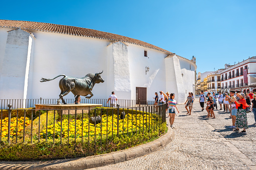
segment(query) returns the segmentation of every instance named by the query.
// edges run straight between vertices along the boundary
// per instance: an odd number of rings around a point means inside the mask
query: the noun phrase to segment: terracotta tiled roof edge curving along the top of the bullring
[[[13,21],[13,20],[0,20],[0,27],[21,28],[29,31],[38,30],[38,31],[60,33],[60,34],[69,34],[69,35],[75,35],[75,36],[107,39],[107,40],[113,40],[113,41],[122,41],[122,42],[132,43],[132,44],[140,45],[143,47],[159,50],[167,54],[172,54],[167,50],[164,50],[162,48],[159,48],[157,46],[154,46],[152,44],[149,44],[140,40],[136,40],[136,39],[125,37],[125,36],[120,36],[117,34],[97,31],[93,29],[87,29],[87,28],[63,26],[63,25],[48,24],[48,23],[38,23],[38,22],[30,22],[30,21]]]

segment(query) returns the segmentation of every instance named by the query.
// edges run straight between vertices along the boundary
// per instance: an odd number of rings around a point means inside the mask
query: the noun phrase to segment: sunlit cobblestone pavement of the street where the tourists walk
[[[192,115],[178,105],[175,139],[164,148],[125,162],[92,169],[256,169],[256,126],[248,113],[247,134],[233,132],[229,113],[214,110],[216,119],[206,118],[198,100]],[[219,109],[219,105],[218,105]],[[167,124],[168,120],[167,120]]]

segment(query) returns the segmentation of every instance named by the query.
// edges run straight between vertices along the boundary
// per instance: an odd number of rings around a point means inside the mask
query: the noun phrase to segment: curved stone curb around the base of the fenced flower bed
[[[149,143],[129,149],[106,153],[102,155],[70,158],[53,161],[0,161],[0,169],[87,169],[119,163],[149,154],[163,148],[174,139],[174,131],[168,127],[168,132]]]

